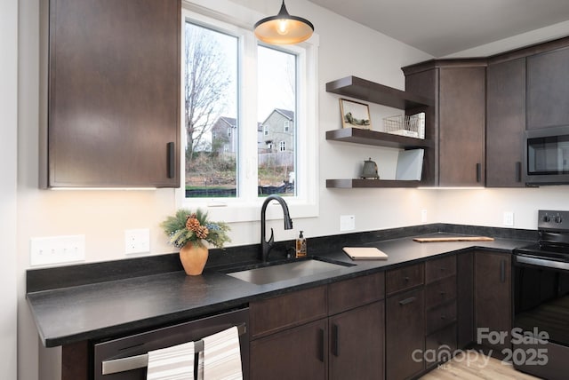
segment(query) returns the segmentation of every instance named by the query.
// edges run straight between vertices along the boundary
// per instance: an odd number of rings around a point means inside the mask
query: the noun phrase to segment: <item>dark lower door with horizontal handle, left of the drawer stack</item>
[[[424,369],[423,289],[389,297],[386,308],[386,378],[405,379],[416,376]]]

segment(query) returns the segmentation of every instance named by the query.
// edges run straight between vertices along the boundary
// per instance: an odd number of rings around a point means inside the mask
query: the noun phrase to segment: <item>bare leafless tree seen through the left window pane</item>
[[[230,75],[220,45],[211,30],[186,23],[186,158],[209,146],[204,136],[227,103]]]

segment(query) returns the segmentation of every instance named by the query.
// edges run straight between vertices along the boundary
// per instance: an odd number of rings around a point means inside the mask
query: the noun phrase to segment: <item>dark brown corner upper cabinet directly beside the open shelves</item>
[[[434,186],[485,185],[485,59],[431,60],[403,67],[407,92],[435,99],[426,109],[424,180]]]

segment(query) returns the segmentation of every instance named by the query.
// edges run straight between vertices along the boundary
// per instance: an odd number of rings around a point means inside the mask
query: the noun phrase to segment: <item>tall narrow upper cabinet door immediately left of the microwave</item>
[[[525,58],[486,70],[486,186],[523,187]]]

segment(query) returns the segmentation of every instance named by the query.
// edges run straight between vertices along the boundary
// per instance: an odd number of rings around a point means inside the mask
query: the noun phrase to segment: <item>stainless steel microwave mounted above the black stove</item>
[[[569,185],[569,126],[525,131],[525,183]]]

